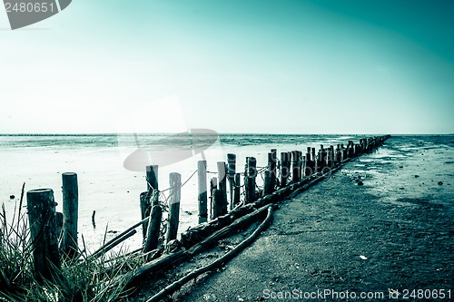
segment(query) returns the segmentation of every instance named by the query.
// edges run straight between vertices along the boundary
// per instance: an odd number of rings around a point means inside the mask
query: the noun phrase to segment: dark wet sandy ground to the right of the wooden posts
[[[172,300],[454,298],[452,150],[446,138],[391,138],[380,151],[282,202],[271,227],[251,247],[191,281]],[[222,240],[212,255],[244,236]],[[192,267],[216,257],[209,255]],[[163,274],[155,285],[165,286],[169,276],[187,269]],[[155,292],[146,289],[149,282],[142,286],[137,301]]]

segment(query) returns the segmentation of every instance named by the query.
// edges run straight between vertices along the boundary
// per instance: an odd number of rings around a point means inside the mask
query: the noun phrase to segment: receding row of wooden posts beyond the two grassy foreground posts
[[[257,189],[256,178],[259,174],[257,161],[254,157],[246,158],[245,170],[243,173],[236,171],[236,155],[227,154],[227,162],[217,162],[218,177],[210,180],[210,190],[207,184],[207,162],[198,161],[198,217],[199,223],[208,220],[208,201],[211,201],[211,219],[216,219],[225,215],[229,209],[233,209],[241,204],[241,175],[244,175],[244,204],[257,200],[260,196],[271,194],[274,190],[283,188],[291,182],[298,182],[303,178],[311,177],[314,173],[328,173],[331,168],[341,161],[358,156],[360,153],[369,152],[376,148],[387,136],[360,139],[359,143],[349,141],[346,146],[338,144],[336,148],[329,146],[324,148],[321,145],[316,153],[315,148],[308,147],[305,155],[302,151],[281,152],[281,161],[277,160],[277,150],[271,149],[268,153],[268,163],[262,170],[263,188]],[[279,175],[278,175],[279,168]],[[148,252],[158,247],[161,219],[163,217],[162,205],[158,202],[158,166],[151,165],[146,167],[146,181],[148,190],[141,194],[142,219],[150,217],[149,221],[143,225],[144,251]],[[229,198],[227,191],[229,183]],[[170,200],[169,214],[167,219],[166,242],[176,239],[180,196],[181,196],[181,175],[179,173],[170,174]],[[210,192],[211,198],[208,197]],[[229,207],[230,204],[230,207]],[[151,214],[151,215],[150,215]],[[149,227],[147,227],[149,226]]]

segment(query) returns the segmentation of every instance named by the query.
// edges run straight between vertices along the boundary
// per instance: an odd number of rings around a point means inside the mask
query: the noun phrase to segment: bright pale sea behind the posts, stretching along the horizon
[[[101,247],[141,220],[140,194],[147,189],[146,165],[158,164],[159,190],[169,188],[169,174],[182,177],[179,233],[198,224],[197,161],[207,161],[208,178],[217,175],[217,162],[236,154],[236,170],[242,172],[246,157],[266,166],[271,149],[303,151],[307,147],[346,144],[370,135],[121,133],[121,134],[3,134],[0,135],[0,204],[8,218],[19,204],[21,190],[54,190],[57,210],[62,211],[62,173],[75,172],[79,186],[79,245],[89,251]],[[400,136],[411,141],[441,140],[452,156],[453,136]],[[409,145],[410,143],[410,145]],[[444,145],[443,145],[444,146]],[[401,156],[383,149],[386,156]],[[383,158],[383,156],[381,156]],[[377,157],[380,159],[380,156]],[[373,161],[369,159],[369,161]],[[446,161],[452,161],[446,160]],[[370,164],[364,161],[363,163]],[[450,166],[450,165],[449,165]],[[258,177],[258,185],[262,180]],[[165,195],[163,195],[165,196]],[[24,207],[26,198],[24,199]],[[95,225],[92,216],[95,211]],[[131,250],[142,245],[142,229],[124,242]]]

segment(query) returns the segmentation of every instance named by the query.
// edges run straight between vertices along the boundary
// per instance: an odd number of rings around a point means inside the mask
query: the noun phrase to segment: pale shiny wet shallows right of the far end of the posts
[[[371,154],[358,160],[357,170],[364,186],[399,207],[414,207],[430,200],[438,207],[454,200],[454,136],[393,136]],[[437,192],[440,200],[432,200]]]

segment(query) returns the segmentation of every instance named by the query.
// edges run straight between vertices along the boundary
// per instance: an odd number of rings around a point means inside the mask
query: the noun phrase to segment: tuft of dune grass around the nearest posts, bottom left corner
[[[77,259],[63,255],[52,282],[35,278],[24,191],[25,184],[11,219],[5,204],[0,213],[0,301],[104,302],[127,296],[126,273],[139,267],[143,258],[125,256],[121,250],[97,258],[86,252]]]

